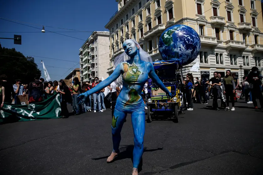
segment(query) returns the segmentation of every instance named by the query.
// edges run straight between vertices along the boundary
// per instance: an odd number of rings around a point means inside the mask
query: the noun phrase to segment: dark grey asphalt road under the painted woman
[[[263,174],[262,111],[240,102],[236,111],[214,111],[209,105],[211,100],[194,104],[193,111],[179,116],[179,123],[146,123],[139,174]],[[111,120],[107,109],[0,125],[0,174],[131,174],[130,115],[122,130],[121,153],[106,163],[112,151]]]

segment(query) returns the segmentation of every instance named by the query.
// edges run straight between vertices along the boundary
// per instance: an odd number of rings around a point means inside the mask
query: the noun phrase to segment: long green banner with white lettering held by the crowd
[[[32,121],[61,118],[60,96],[50,95],[43,102],[28,105],[4,103],[0,113],[0,123],[5,120]]]

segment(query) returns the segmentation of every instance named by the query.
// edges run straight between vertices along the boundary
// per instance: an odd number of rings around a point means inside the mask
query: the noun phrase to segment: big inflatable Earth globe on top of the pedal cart
[[[186,25],[167,28],[159,39],[159,51],[164,61],[178,60],[182,66],[190,64],[199,55],[201,48],[197,32]]]

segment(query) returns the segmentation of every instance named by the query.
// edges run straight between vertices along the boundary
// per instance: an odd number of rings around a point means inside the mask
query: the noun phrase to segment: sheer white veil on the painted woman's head
[[[145,52],[139,45],[139,43],[135,40],[125,40],[126,41],[133,41],[135,43],[135,45],[139,46],[139,53],[140,53],[140,59],[141,61],[146,61],[146,62],[151,62],[152,63],[152,59],[151,56],[148,54],[148,52]],[[116,58],[114,59],[114,66],[118,66],[118,64],[122,63],[123,61],[128,61],[131,58],[125,53],[123,52],[122,54],[116,56]]]

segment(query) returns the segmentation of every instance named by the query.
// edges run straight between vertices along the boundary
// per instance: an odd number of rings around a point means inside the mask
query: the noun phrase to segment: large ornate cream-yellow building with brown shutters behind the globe
[[[116,0],[118,11],[105,28],[110,30],[111,65],[124,50],[123,41],[134,39],[153,61],[161,60],[158,41],[169,26],[184,24],[200,35],[200,71],[230,69],[239,77],[263,63],[263,20],[260,0]],[[184,74],[193,64],[184,67]]]

